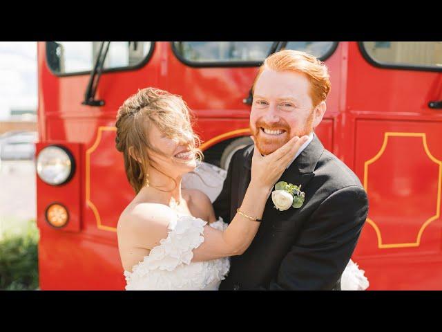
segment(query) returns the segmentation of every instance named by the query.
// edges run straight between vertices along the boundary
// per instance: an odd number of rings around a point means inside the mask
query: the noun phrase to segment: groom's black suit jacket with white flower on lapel
[[[253,145],[233,155],[215,214],[231,221],[250,182]],[[231,257],[220,290],[336,290],[368,212],[358,177],[314,139],[279,181],[302,185],[301,208],[279,211],[267,200],[260,229],[243,255]]]

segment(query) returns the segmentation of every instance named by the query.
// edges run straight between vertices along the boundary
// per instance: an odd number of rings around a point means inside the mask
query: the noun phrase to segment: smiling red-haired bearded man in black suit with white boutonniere
[[[314,134],[329,90],[327,67],[307,53],[282,50],[260,67],[252,89],[253,138],[267,155],[291,137],[309,135],[279,180],[300,186],[305,197],[300,207],[285,210],[287,206],[269,196],[258,234],[243,255],[231,257],[220,290],[340,289],[340,275],[361,234],[368,201],[357,176]],[[253,145],[231,159],[213,203],[224,221],[231,221],[242,203],[252,155]]]

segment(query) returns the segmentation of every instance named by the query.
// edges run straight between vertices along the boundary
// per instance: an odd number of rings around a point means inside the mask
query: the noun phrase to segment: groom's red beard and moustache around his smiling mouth
[[[256,120],[255,123],[255,129],[251,128],[251,132],[253,134],[253,137],[256,140],[256,147],[258,147],[258,150],[261,154],[267,155],[271,154],[273,151],[276,151],[282,145],[285,145],[291,138],[294,136],[304,136],[309,135],[311,131],[313,131],[313,127],[311,127],[311,124],[313,122],[313,111],[311,111],[309,117],[307,120],[305,120],[304,127],[300,131],[296,131],[294,133],[291,133],[290,126],[284,119],[280,119],[280,121],[273,123],[273,124],[267,124],[266,122],[262,121],[261,118]],[[266,135],[262,128],[270,129],[270,130],[283,130],[284,133],[281,133],[277,136],[270,136]]]

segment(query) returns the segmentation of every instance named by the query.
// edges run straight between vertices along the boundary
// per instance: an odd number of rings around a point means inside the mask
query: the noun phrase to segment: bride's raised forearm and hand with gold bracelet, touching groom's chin
[[[265,203],[273,185],[306,140],[307,136],[303,136],[301,139],[294,137],[280,149],[267,156],[261,156],[255,147],[251,181],[240,206],[240,210],[244,214],[256,219],[262,218]],[[242,255],[249,248],[259,226],[259,221],[251,221],[239,213],[233,217],[224,232],[206,225],[204,227],[204,242],[193,250],[192,261],[209,261],[220,257]]]

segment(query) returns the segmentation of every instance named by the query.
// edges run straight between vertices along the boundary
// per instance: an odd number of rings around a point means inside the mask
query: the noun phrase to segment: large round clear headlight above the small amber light
[[[62,185],[68,182],[74,170],[73,156],[62,147],[55,145],[45,147],[37,157],[37,174],[49,185]]]

